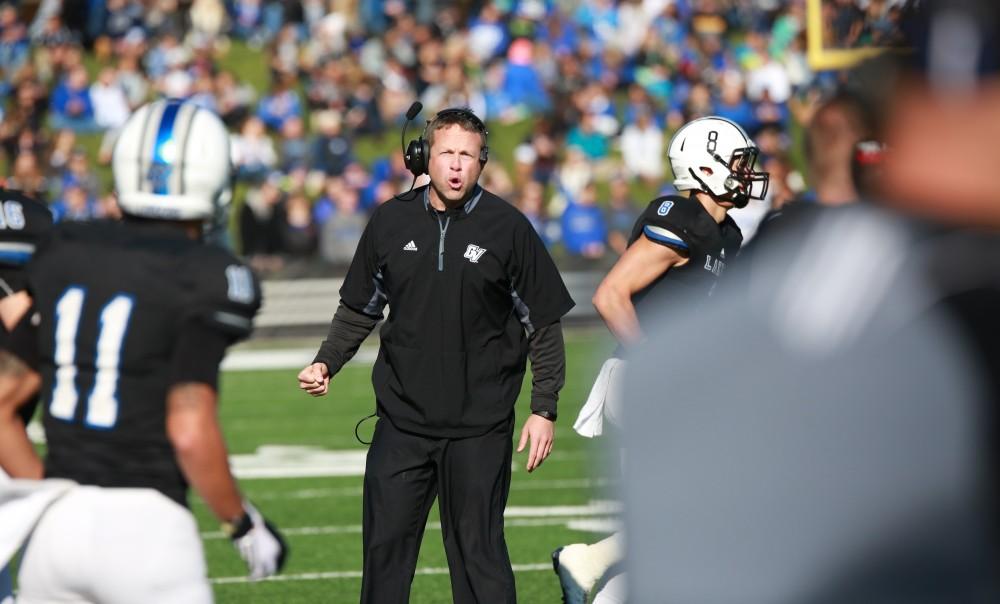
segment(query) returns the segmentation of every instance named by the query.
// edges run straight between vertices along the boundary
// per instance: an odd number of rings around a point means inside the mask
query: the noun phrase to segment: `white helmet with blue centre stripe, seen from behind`
[[[211,220],[229,203],[229,132],[217,115],[177,99],[140,107],[115,143],[111,170],[124,213]]]

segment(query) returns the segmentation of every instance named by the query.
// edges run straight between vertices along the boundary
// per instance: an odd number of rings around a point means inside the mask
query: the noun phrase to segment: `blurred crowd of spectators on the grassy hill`
[[[825,43],[889,41],[901,4],[824,0]],[[803,192],[790,128],[837,77],[810,71],[805,28],[804,0],[8,2],[0,159],[6,186],[60,220],[114,215],[95,164],[137,106],[188,98],[234,134],[237,246],[265,271],[341,264],[367,212],[411,184],[399,151],[362,162],[359,138],[397,136],[414,100],[424,116],[467,106],[494,133],[530,123],[483,184],[561,261],[613,260],[648,201],[630,185],[669,188],[669,134],[694,117],[756,138],[775,175],[766,207]],[[228,53],[266,64],[266,89],[223,67]]]

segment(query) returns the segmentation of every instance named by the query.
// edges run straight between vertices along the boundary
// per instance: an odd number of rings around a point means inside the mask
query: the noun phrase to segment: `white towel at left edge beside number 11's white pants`
[[[59,478],[0,483],[0,567],[21,548],[45,510],[75,486]]]

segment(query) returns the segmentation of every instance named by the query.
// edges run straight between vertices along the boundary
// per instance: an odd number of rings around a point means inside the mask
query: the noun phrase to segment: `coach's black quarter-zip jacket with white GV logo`
[[[427,187],[379,206],[340,295],[372,318],[389,306],[372,371],[379,414],[401,430],[440,437],[482,434],[508,420],[524,378],[526,333],[573,307],[528,220],[481,188],[446,212],[430,206]]]

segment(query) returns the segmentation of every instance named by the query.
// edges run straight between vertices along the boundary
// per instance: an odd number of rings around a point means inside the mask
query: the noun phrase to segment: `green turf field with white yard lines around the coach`
[[[569,331],[566,340],[567,383],[552,456],[532,474],[524,471],[526,452],[514,457],[506,535],[518,599],[529,604],[560,601],[549,561],[555,547],[595,541],[615,521],[611,501],[614,477],[594,469],[604,467],[600,443],[581,438],[572,430],[573,419],[611,343],[606,333],[597,329]],[[318,345],[318,339],[313,344]],[[362,484],[358,462],[366,448],[355,440],[354,426],[374,405],[371,364],[349,364],[335,377],[331,393],[322,399],[298,391],[296,372],[228,371],[223,376],[223,426],[242,475],[241,484],[284,530],[291,557],[281,576],[247,582],[245,567],[232,546],[218,532],[205,505],[193,497],[217,602],[358,600]],[[529,390],[530,373],[517,403],[518,431],[527,413]],[[371,428],[369,421],[362,434],[370,434]],[[253,457],[247,457],[250,455]],[[336,472],[351,475],[289,477]],[[275,477],[247,477],[264,473]],[[410,601],[451,602],[436,507],[428,519],[417,567]]]

